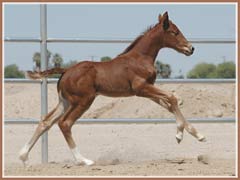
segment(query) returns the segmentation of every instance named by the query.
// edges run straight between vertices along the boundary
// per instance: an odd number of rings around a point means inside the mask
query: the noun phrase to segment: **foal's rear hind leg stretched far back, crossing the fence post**
[[[58,120],[58,118],[62,115],[63,112],[64,112],[64,104],[63,102],[59,102],[57,107],[53,109],[50,113],[48,113],[47,116],[39,122],[37,129],[35,130],[32,138],[27,144],[25,144],[25,146],[21,149],[19,153],[19,159],[21,159],[23,163],[28,159],[28,154],[31,151],[34,144],[39,139],[39,137],[45,131],[47,131],[52,127],[52,125]]]

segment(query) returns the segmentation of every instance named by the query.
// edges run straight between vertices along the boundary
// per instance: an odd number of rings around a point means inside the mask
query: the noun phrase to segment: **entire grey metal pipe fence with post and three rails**
[[[40,38],[11,38],[5,37],[5,43],[40,43],[41,45],[41,70],[45,70],[46,51],[48,43],[131,43],[133,39],[81,39],[81,38],[48,38],[47,37],[47,5],[40,4]],[[235,44],[234,39],[190,39],[194,44]],[[41,116],[47,113],[47,84],[56,83],[57,79],[28,80],[28,79],[4,79],[4,83],[35,83],[41,84]],[[156,83],[236,83],[235,79],[157,79]],[[200,123],[229,123],[235,122],[235,118],[192,118],[191,122]],[[172,123],[174,119],[80,119],[77,123]],[[35,119],[5,119],[5,124],[35,124]],[[48,162],[48,137],[42,138],[42,163]]]

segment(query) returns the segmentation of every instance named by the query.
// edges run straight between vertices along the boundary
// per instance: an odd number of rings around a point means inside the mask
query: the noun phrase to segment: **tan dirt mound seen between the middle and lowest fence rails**
[[[234,84],[163,84],[180,99],[187,118],[234,117]],[[38,84],[5,84],[5,118],[40,118],[40,86]],[[48,88],[49,111],[57,104],[56,85]],[[31,111],[29,111],[31,109]],[[173,118],[173,115],[146,98],[110,98],[98,96],[82,118]]]

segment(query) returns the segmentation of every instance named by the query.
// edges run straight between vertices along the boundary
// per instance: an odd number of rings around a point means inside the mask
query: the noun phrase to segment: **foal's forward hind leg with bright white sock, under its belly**
[[[70,105],[70,107],[67,110],[66,116],[62,117],[58,121],[59,128],[61,129],[67,144],[76,160],[76,163],[78,165],[80,164],[86,164],[86,165],[92,165],[94,162],[92,160],[89,160],[82,156],[80,154],[79,149],[77,148],[73,137],[71,128],[74,124],[74,122],[90,107],[94,100],[94,97],[82,97],[80,98],[79,104],[77,105]]]

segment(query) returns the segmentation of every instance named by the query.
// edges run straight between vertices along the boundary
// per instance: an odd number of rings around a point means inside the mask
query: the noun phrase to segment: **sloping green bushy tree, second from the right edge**
[[[216,78],[216,66],[210,63],[197,64],[188,72],[187,78]]]

